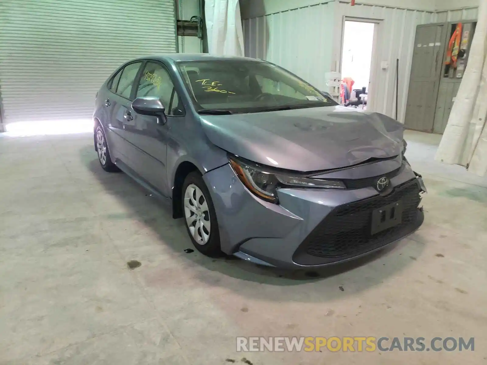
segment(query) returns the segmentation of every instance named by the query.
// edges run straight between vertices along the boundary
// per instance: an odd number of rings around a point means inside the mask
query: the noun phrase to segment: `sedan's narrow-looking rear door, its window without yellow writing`
[[[137,165],[137,151],[131,146],[125,131],[125,119],[130,114],[133,94],[133,85],[142,67],[143,61],[136,61],[127,64],[121,71],[116,88],[112,85],[110,98],[105,100],[112,110],[109,129],[113,134],[113,142],[117,150],[117,156],[124,164],[128,165],[135,172]],[[115,79],[114,79],[115,81]],[[129,117],[130,118],[130,117]],[[111,142],[111,141],[110,141]]]

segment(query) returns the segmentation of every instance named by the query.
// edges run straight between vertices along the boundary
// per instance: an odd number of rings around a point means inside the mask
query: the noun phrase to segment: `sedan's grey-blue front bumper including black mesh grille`
[[[279,189],[279,205],[255,197],[229,165],[204,175],[215,205],[222,251],[282,268],[335,264],[369,254],[421,226],[423,190],[409,164],[379,194],[368,186],[353,190]],[[403,201],[402,222],[370,235],[372,211]]]

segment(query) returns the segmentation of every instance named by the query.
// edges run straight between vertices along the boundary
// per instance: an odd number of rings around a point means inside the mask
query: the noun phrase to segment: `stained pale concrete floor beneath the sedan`
[[[422,228],[309,277],[186,254],[183,222],[104,172],[91,135],[0,137],[0,364],[485,364],[487,179],[435,163],[439,136],[407,139],[429,188]],[[236,353],[236,336],[463,336],[476,347]]]

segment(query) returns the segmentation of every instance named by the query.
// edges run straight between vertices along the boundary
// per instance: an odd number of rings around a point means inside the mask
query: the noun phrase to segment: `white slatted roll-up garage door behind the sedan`
[[[174,0],[0,0],[3,123],[91,118],[123,62],[176,52]]]

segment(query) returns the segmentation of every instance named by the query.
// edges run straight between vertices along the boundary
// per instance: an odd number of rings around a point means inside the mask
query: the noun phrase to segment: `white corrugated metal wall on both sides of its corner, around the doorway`
[[[329,1],[245,19],[245,55],[277,63],[314,86],[325,88],[325,73],[340,67],[345,17],[381,20],[371,107],[394,116],[395,62],[399,58],[398,119],[403,122],[416,25],[436,21],[433,12]],[[380,69],[380,61],[389,63],[387,71]]]

